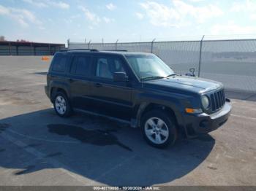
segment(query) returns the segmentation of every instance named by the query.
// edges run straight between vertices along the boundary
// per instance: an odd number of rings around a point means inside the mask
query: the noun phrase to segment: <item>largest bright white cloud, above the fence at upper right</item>
[[[222,9],[214,4],[199,7],[180,0],[173,0],[170,7],[156,1],[140,3],[140,7],[154,26],[181,27],[189,25],[188,20],[205,23],[208,19],[223,15]]]

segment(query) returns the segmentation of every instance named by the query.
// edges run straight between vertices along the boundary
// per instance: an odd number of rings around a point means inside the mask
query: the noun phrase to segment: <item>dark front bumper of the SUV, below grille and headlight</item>
[[[187,114],[185,117],[187,136],[193,137],[216,130],[230,117],[231,107],[230,102],[226,101],[222,109],[214,114]]]

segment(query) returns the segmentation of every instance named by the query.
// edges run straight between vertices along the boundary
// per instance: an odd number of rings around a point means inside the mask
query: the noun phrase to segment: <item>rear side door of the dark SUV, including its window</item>
[[[91,104],[91,56],[86,54],[73,55],[69,68],[69,87],[72,106],[78,109],[89,110]]]

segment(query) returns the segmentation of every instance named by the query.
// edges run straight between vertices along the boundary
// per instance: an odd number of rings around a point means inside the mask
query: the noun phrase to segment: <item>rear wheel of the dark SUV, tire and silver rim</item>
[[[57,92],[54,95],[53,106],[60,117],[69,117],[72,114],[72,108],[65,93]]]

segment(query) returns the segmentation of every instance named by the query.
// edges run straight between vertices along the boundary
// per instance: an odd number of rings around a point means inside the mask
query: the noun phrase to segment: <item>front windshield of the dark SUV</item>
[[[174,75],[173,70],[156,55],[126,55],[126,58],[141,80]]]

